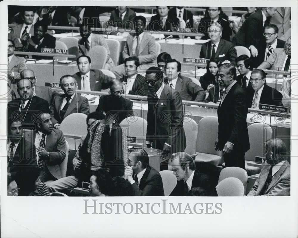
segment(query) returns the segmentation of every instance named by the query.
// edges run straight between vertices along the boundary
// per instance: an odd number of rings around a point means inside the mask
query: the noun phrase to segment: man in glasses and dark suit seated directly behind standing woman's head
[[[119,99],[121,101],[121,109],[117,112],[117,119],[115,121],[116,124],[119,124],[127,117],[134,116],[134,111],[132,110],[132,101],[125,99],[122,97],[122,94],[124,94],[123,85],[121,81],[114,79],[110,82],[109,85],[110,88],[110,94],[111,95],[104,95],[99,98],[98,107],[96,108],[96,111],[101,114],[100,119],[103,119],[105,117],[103,113],[103,107],[106,103],[109,104],[115,104]],[[118,99],[119,98],[119,99]]]

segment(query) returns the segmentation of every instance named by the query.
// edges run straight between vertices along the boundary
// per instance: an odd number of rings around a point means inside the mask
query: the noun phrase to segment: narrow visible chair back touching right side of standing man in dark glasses
[[[195,154],[195,148],[198,137],[198,124],[194,119],[184,119],[183,128],[186,136],[186,148],[185,152],[189,155]]]

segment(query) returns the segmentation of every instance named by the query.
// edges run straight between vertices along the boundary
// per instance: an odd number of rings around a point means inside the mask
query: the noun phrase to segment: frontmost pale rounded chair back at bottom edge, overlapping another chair
[[[219,197],[244,196],[244,186],[239,178],[225,178],[215,188]]]

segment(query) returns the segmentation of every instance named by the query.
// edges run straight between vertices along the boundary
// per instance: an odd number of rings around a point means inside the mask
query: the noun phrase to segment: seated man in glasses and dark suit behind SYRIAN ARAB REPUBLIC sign
[[[283,95],[275,88],[266,84],[266,74],[262,69],[254,69],[250,76],[254,91],[249,92],[247,105],[249,108],[259,108],[259,104],[283,106]]]

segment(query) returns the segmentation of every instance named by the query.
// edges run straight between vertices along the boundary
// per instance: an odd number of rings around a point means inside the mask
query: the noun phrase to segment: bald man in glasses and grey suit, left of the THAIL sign
[[[21,79],[28,79],[32,82],[33,96],[37,96],[46,100],[49,106],[52,105],[52,99],[54,98],[56,92],[50,87],[37,86],[37,77],[34,75],[34,72],[31,69],[25,69],[21,71]]]

